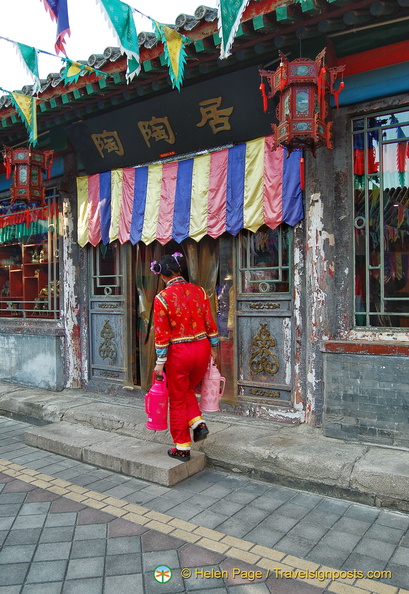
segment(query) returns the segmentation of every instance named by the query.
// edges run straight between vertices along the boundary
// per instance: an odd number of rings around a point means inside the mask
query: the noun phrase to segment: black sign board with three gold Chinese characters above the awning
[[[67,133],[87,174],[245,142],[271,134],[259,87],[258,68],[246,68],[90,117]]]

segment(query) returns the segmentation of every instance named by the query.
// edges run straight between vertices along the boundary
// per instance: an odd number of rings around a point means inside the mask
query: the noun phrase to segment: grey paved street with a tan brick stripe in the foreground
[[[408,514],[219,470],[162,487],[27,446],[29,426],[0,417],[0,594],[409,594]]]

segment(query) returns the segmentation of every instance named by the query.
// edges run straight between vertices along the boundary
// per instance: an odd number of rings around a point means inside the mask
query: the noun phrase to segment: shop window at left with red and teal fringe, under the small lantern
[[[0,200],[0,316],[59,318],[58,205]]]

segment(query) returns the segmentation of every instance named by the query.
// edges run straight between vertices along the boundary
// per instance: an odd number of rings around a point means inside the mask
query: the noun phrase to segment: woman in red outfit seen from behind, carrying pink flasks
[[[209,433],[202,419],[195,386],[203,379],[210,355],[217,359],[219,344],[206,291],[188,283],[181,276],[182,254],[163,256],[152,262],[151,270],[160,274],[166,287],[155,297],[154,327],[157,375],[166,378],[170,402],[170,433],[175,447],[169,456],[190,460],[193,441],[205,439]]]

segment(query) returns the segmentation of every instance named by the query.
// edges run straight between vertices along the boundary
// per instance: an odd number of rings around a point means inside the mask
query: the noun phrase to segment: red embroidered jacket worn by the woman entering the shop
[[[154,302],[155,349],[164,358],[171,343],[208,338],[219,343],[217,325],[206,291],[178,276],[172,278]]]

